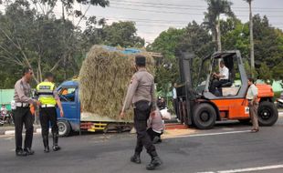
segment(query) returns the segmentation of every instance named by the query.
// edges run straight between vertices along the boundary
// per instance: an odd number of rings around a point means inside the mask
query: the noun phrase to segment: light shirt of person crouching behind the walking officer
[[[156,133],[162,133],[162,131],[164,130],[164,122],[162,120],[162,114],[159,109],[156,109],[156,114],[154,115],[154,117],[149,117],[147,127],[152,127],[152,130]]]

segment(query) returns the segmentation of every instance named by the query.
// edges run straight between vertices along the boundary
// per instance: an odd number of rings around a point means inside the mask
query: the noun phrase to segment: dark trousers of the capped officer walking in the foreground
[[[142,102],[136,103],[134,108],[134,127],[137,130],[137,144],[135,148],[136,153],[141,153],[142,148],[146,148],[147,153],[152,157],[156,157],[157,153],[152,144],[151,137],[146,131],[147,120],[151,114],[151,107],[146,107]]]

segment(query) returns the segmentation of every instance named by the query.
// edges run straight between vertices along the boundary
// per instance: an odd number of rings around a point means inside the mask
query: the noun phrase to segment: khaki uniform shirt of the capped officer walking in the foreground
[[[128,87],[127,95],[122,110],[128,110],[132,103],[141,100],[152,102],[152,109],[155,110],[155,88],[154,78],[146,69],[140,69],[131,77],[131,84]]]

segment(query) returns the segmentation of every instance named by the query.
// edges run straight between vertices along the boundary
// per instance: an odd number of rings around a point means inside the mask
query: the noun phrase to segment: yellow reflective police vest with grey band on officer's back
[[[37,85],[37,94],[42,105],[56,105],[56,99],[53,96],[55,84],[52,82],[41,82]]]

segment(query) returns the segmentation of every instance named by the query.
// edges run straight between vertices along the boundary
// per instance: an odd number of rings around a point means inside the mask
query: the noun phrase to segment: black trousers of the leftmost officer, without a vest
[[[15,121],[15,139],[16,139],[16,151],[22,149],[23,145],[23,125],[26,127],[26,137],[24,148],[31,148],[34,134],[33,121],[34,118],[31,115],[29,107],[16,107],[14,110]]]

